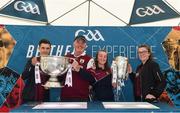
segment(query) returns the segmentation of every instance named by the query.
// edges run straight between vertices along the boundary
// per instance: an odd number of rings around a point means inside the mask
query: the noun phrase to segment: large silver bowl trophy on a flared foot
[[[69,58],[62,56],[41,56],[41,70],[50,75],[44,87],[62,87],[57,76],[64,74],[69,67]]]

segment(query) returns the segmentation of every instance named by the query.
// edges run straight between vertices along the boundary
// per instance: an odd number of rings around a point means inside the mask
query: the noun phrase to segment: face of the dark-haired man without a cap
[[[39,47],[40,56],[47,56],[51,51],[51,46],[49,44],[42,43]]]

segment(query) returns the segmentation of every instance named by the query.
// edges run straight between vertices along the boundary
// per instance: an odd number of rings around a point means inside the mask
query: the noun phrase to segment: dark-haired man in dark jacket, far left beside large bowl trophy
[[[42,39],[39,42],[39,57],[30,58],[22,73],[22,79],[25,81],[25,87],[22,93],[23,103],[49,101],[49,89],[44,85],[49,79],[49,75],[43,73],[39,67],[41,56],[49,55],[51,43]]]

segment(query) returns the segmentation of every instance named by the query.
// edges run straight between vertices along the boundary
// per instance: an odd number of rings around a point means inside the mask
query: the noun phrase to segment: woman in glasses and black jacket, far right
[[[153,60],[148,45],[140,45],[138,55],[142,63],[137,67],[136,73],[128,66],[129,77],[134,85],[135,101],[155,102],[165,89],[165,78],[158,63]]]

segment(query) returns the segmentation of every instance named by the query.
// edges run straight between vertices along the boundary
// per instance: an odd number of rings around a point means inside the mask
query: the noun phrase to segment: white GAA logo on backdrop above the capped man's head
[[[86,38],[86,40],[88,40],[88,41],[92,41],[92,40],[94,40],[94,41],[99,41],[99,40],[104,41],[104,38],[101,35],[99,30],[94,30],[94,31],[86,30],[85,31],[85,30],[80,29],[80,30],[77,30],[75,32],[75,36],[78,36],[78,35],[83,35]]]

